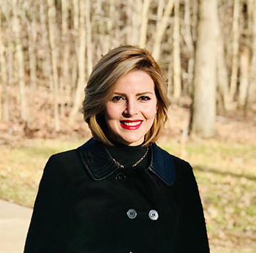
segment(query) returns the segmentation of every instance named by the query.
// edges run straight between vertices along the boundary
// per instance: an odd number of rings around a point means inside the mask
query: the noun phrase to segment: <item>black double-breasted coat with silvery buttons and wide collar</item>
[[[192,167],[153,144],[149,167],[127,171],[93,138],[51,156],[24,252],[209,252]]]

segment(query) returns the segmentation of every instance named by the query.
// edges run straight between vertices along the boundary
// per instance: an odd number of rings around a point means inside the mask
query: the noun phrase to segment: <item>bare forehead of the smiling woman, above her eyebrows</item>
[[[123,75],[113,85],[112,91],[154,91],[154,81],[148,73],[133,71]]]

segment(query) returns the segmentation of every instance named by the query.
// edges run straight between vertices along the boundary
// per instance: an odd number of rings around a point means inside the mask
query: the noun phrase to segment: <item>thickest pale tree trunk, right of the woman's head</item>
[[[190,129],[192,134],[200,137],[213,137],[217,134],[215,127],[217,0],[200,0],[198,15],[195,89]]]

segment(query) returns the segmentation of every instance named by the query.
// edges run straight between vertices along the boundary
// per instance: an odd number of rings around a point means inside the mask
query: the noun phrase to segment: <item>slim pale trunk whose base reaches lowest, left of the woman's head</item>
[[[60,131],[59,122],[59,74],[57,64],[57,50],[56,50],[56,7],[53,0],[48,0],[48,28],[49,28],[49,39],[50,39],[50,50],[51,50],[51,63],[53,69],[53,110],[54,110],[54,127],[56,132]]]

